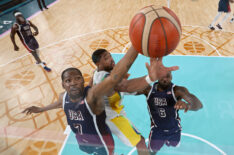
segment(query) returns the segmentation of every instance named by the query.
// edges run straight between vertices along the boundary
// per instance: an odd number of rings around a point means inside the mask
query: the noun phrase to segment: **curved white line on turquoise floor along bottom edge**
[[[214,145],[213,143],[201,138],[201,137],[198,137],[198,136],[195,136],[195,135],[192,135],[192,134],[188,134],[188,133],[181,133],[182,136],[187,136],[187,137],[191,137],[191,138],[194,138],[194,139],[197,139],[197,140],[200,140],[206,144],[208,144],[209,146],[213,147],[215,150],[219,151],[222,155],[227,155],[223,150],[221,150],[218,146]],[[149,139],[146,139],[145,142],[147,143]],[[132,155],[132,153],[136,151],[136,147],[134,147],[129,153],[128,155]]]

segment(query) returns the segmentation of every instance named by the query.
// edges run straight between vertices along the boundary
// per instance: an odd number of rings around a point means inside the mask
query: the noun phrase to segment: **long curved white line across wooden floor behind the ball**
[[[59,0],[58,0],[58,1],[59,1]],[[187,26],[187,27],[200,27],[200,28],[208,29],[208,27],[206,28],[206,27],[202,27],[202,26],[191,26],[191,25],[183,25],[183,26]],[[183,26],[182,26],[182,27],[183,27]],[[86,35],[90,35],[90,34],[94,34],[94,33],[99,33],[99,32],[103,32],[103,31],[106,31],[106,30],[113,30],[113,29],[127,28],[127,27],[129,27],[129,26],[117,26],[117,27],[113,27],[113,28],[101,29],[101,30],[97,30],[97,31],[93,31],[93,32],[84,33],[84,34],[78,34],[78,35],[72,36],[72,37],[70,37],[70,38],[62,39],[62,40],[56,41],[56,42],[54,42],[54,43],[51,43],[51,44],[49,44],[49,45],[46,45],[46,46],[44,46],[44,47],[42,47],[42,48],[39,48],[39,50],[48,48],[48,47],[50,47],[50,46],[59,44],[59,43],[64,42],[64,41],[72,40],[72,39],[74,39],[74,38],[80,38],[80,37],[83,37],[83,36],[86,36]],[[224,32],[224,31],[222,31],[222,32]],[[234,32],[230,32],[230,33],[234,33]],[[191,35],[191,36],[192,36],[192,35]],[[1,38],[0,38],[0,39],[1,39]],[[199,39],[200,39],[200,38],[199,38]],[[212,47],[212,45],[211,45],[211,47]],[[10,60],[10,61],[4,63],[4,64],[1,64],[1,65],[0,65],[0,68],[1,68],[1,67],[4,67],[4,66],[6,66],[6,65],[8,65],[8,64],[10,64],[10,63],[12,63],[12,62],[15,62],[15,61],[17,61],[17,60],[19,60],[19,59],[21,59],[21,58],[23,58],[23,57],[25,57],[25,56],[28,56],[29,54],[30,54],[30,53],[21,55],[21,56],[19,56],[19,57],[17,57],[17,58],[14,58],[14,59],[12,59],[12,60]],[[195,55],[194,55],[194,56],[195,56]],[[211,57],[211,56],[207,56],[207,57]],[[234,56],[224,56],[224,57],[234,57]]]

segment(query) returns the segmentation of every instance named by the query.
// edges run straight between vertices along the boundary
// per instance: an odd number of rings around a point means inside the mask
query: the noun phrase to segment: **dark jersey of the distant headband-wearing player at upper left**
[[[32,31],[30,28],[30,24],[28,21],[26,21],[25,24],[18,24],[17,34],[21,40],[21,42],[24,44],[24,46],[31,52],[35,51],[39,48],[39,45],[35,39],[35,37],[32,35]]]

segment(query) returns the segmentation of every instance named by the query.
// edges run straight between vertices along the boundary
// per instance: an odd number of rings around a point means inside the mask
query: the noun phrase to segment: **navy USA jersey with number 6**
[[[147,104],[151,117],[151,124],[163,131],[181,130],[178,110],[174,108],[177,99],[173,91],[174,84],[165,91],[157,91],[158,83],[154,83],[148,97]]]

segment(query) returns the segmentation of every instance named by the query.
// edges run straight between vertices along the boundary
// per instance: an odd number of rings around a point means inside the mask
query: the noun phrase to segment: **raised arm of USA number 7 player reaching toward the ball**
[[[107,95],[123,79],[137,58],[137,51],[130,47],[124,57],[116,64],[111,74],[98,85],[93,86],[86,97],[93,113],[100,114],[104,110],[103,97]]]

